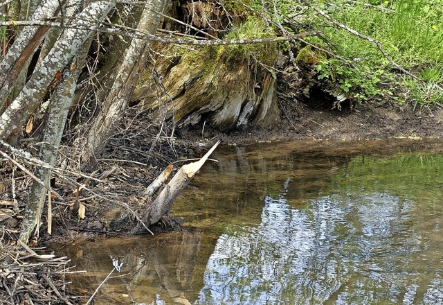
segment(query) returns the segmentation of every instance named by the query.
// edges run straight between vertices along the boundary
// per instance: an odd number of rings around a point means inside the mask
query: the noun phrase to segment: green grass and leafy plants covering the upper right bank
[[[311,9],[306,10],[304,4],[303,11],[298,1],[256,0],[256,3],[264,3],[269,15],[275,12],[273,3],[277,3],[280,16],[274,20],[294,19],[299,24],[323,30],[325,40],[311,37],[309,41],[348,60],[327,58],[319,62],[318,78],[338,82],[345,92],[359,100],[395,95],[402,87],[401,91],[406,94],[397,97],[400,103],[411,103],[414,107],[442,104],[443,0],[311,2],[341,24],[379,41],[392,60],[422,81],[399,73],[374,43],[330,24]]]

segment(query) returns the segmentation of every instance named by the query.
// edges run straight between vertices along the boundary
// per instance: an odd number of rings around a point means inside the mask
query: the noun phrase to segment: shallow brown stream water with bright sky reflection
[[[183,232],[65,247],[96,304],[443,304],[443,154],[417,141],[223,146]],[[114,259],[114,265],[113,265]]]

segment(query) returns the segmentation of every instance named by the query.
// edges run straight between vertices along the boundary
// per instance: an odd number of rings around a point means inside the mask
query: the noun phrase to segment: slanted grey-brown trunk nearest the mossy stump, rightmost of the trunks
[[[137,30],[156,33],[161,13],[165,11],[168,2],[169,0],[147,1]],[[127,110],[150,45],[150,41],[133,39],[126,49],[111,91],[107,94],[98,118],[85,137],[82,156],[86,164],[93,162],[95,155],[102,151],[116,130],[116,124],[120,122],[122,114]]]

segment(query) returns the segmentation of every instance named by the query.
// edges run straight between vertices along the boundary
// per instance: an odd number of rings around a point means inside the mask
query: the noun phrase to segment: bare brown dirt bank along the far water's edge
[[[199,139],[221,139],[225,143],[257,141],[291,141],[298,139],[330,139],[354,141],[392,137],[442,137],[443,111],[435,109],[413,111],[410,105],[393,102],[381,105],[356,105],[354,109],[330,110],[310,107],[293,101],[280,103],[282,123],[272,128],[250,128],[228,133],[206,126],[179,132],[179,139],[195,142]],[[202,130],[204,137],[202,137]]]

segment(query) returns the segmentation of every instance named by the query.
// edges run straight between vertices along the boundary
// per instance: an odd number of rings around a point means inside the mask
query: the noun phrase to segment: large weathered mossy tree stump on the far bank
[[[248,19],[233,37],[247,26],[256,28],[252,35],[257,37],[273,35],[266,33],[260,21]],[[162,55],[142,73],[133,103],[167,110],[167,116],[182,125],[206,121],[223,131],[280,122],[272,70],[277,58],[275,43],[195,46],[194,51],[158,44],[154,49]],[[153,74],[159,77],[152,78]]]

